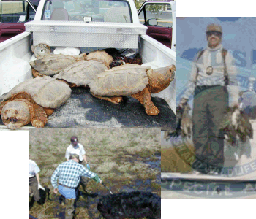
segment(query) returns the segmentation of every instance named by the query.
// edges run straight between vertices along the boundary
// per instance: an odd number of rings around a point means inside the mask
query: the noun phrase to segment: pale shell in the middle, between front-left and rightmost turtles
[[[78,61],[54,75],[54,78],[66,80],[77,86],[86,86],[94,79],[95,75],[105,72],[105,70],[108,70],[108,67],[100,61]]]

